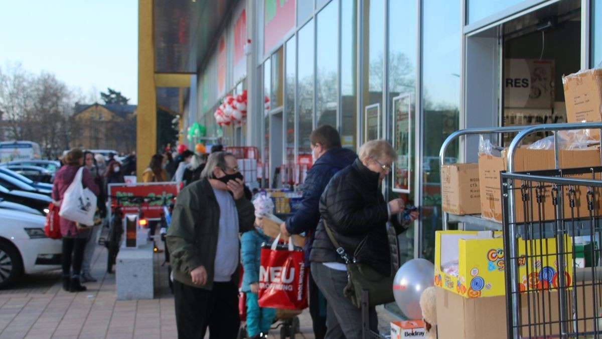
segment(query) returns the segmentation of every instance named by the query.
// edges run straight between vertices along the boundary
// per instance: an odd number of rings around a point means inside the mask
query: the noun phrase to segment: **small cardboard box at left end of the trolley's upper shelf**
[[[444,212],[479,214],[479,164],[454,163],[441,166],[441,196]]]

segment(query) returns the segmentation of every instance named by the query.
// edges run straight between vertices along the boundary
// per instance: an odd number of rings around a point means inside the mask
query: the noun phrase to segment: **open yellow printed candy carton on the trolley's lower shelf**
[[[565,236],[565,253],[571,241]],[[435,236],[435,285],[467,298],[506,293],[501,232],[439,231]],[[543,249],[540,250],[540,249]],[[555,290],[559,284],[556,238],[518,241],[520,290]],[[573,258],[565,255],[565,285],[571,286]]]

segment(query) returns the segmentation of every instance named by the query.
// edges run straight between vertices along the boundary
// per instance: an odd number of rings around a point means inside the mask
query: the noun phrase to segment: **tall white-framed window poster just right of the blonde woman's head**
[[[403,94],[393,98],[393,191],[408,193],[412,173],[412,97]]]

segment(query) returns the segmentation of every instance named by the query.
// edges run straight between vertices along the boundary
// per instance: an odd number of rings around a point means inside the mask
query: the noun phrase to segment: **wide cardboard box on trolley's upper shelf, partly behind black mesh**
[[[479,188],[481,215],[483,218],[501,222],[501,189],[500,189],[500,171],[507,170],[506,164],[507,150],[501,152],[500,157],[491,156],[489,154],[479,154]],[[588,148],[586,150],[560,150],[559,151],[560,168],[577,168],[585,166],[600,165],[600,149]],[[553,150],[529,150],[527,148],[518,148],[515,157],[515,172],[536,171],[536,170],[553,170],[554,151]],[[576,178],[588,179],[588,176],[574,176]],[[589,175],[591,179],[591,175]],[[518,183],[520,185],[520,183]],[[549,185],[548,185],[549,186]],[[586,203],[586,188],[578,187],[576,189],[576,217],[586,217],[589,215],[588,206]],[[535,197],[535,192],[532,193]],[[562,195],[566,201],[566,192]],[[542,208],[543,220],[554,220],[554,206],[552,205],[550,187],[544,189],[544,202]],[[601,211],[600,200],[596,201],[595,211],[597,214]],[[525,211],[525,206],[527,211]],[[571,215],[571,209],[568,203],[564,204],[565,215]],[[533,220],[539,220],[538,206],[533,201]],[[531,201],[523,204],[520,190],[515,191],[515,212],[516,221],[521,223],[524,221],[524,214],[531,215]]]

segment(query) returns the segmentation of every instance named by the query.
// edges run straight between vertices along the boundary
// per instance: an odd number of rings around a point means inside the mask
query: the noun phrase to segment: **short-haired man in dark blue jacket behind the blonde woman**
[[[288,218],[280,226],[284,235],[305,232],[305,261],[309,264],[309,252],[314,242],[315,229],[320,221],[320,195],[326,188],[330,178],[343,168],[351,165],[358,157],[352,150],[341,147],[341,136],[330,126],[323,125],[309,135],[311,154],[314,164],[307,172],[303,184],[303,199],[293,217]],[[326,334],[326,299],[320,293],[314,279],[309,273],[309,314],[314,326],[316,339],[323,339]]]

